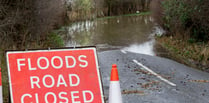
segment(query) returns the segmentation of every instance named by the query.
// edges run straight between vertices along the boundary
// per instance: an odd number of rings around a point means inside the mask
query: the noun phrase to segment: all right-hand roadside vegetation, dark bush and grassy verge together
[[[209,1],[153,0],[155,21],[166,30],[159,43],[180,61],[209,71]]]

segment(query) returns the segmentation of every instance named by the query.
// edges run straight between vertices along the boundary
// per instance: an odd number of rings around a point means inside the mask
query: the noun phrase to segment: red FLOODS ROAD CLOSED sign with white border
[[[13,103],[104,103],[95,48],[7,52]]]

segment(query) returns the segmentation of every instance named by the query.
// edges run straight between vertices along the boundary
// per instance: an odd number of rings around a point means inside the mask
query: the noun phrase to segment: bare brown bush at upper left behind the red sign
[[[60,0],[1,1],[1,49],[25,49],[41,45],[50,31],[63,24],[63,4]]]

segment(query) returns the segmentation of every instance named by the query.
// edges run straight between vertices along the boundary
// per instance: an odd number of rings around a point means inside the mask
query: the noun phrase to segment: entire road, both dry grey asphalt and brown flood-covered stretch
[[[123,103],[209,103],[208,73],[158,57],[168,54],[154,39],[163,32],[150,16],[97,19],[71,24],[66,46],[97,47],[106,101],[114,63]]]

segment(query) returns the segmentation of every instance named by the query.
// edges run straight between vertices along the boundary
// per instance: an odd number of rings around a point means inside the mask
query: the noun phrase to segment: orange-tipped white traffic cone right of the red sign
[[[109,89],[109,103],[122,103],[117,65],[112,65]]]

